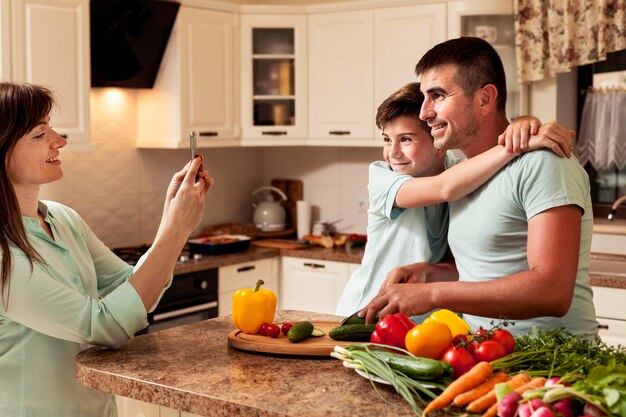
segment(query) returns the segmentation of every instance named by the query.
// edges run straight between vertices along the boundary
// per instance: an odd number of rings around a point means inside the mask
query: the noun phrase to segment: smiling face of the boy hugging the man
[[[425,177],[441,173],[445,151],[435,149],[419,119],[400,116],[383,127],[383,157],[399,174]]]

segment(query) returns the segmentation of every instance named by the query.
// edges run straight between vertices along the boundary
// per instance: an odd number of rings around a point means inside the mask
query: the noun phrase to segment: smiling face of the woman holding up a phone
[[[18,139],[7,161],[9,178],[14,187],[39,186],[63,176],[59,149],[67,140],[52,130],[50,117]]]

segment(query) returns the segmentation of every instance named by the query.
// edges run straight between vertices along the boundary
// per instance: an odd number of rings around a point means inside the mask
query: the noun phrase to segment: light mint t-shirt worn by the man
[[[515,320],[515,326],[508,328],[513,333],[527,333],[533,326],[540,329],[563,326],[583,337],[597,335],[589,281],[593,226],[589,190],[587,173],[575,157],[559,158],[549,150],[539,150],[516,158],[481,188],[450,203],[448,242],[459,280],[467,282],[489,281],[528,270],[526,244],[531,217],[570,204],[584,211],[576,286],[569,311],[564,317]],[[474,330],[480,326],[490,328],[494,320],[468,314],[463,318]]]

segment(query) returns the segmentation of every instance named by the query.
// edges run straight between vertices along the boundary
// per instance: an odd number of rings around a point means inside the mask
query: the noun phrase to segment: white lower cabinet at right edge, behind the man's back
[[[600,323],[600,337],[609,345],[626,346],[626,290],[592,287],[593,303]]]

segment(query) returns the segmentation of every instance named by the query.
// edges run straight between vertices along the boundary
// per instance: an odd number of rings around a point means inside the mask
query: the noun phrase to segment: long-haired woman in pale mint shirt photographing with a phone
[[[46,88],[0,83],[0,415],[116,416],[112,395],[76,382],[74,357],[147,326],[213,179],[201,157],[174,174],[154,243],[133,268],[74,210],[39,201],[41,185],[63,176],[53,105]]]

